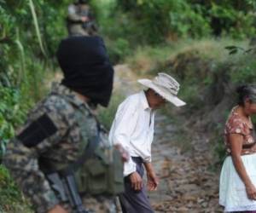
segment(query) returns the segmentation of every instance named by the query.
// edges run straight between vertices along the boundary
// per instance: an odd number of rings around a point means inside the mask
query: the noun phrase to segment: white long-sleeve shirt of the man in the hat
[[[144,91],[125,99],[116,112],[109,133],[113,144],[120,143],[131,155],[151,162],[151,143],[154,137],[154,111],[148,106]],[[124,165],[124,176],[136,171],[130,158]]]

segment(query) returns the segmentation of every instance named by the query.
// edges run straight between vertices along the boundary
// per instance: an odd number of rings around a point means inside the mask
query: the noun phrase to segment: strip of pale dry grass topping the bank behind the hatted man
[[[197,51],[202,58],[221,62],[230,58],[229,52],[224,49],[226,46],[238,45],[247,49],[247,43],[248,41],[237,41],[224,37],[221,39],[185,39],[157,46],[138,46],[132,55],[125,57],[125,63],[131,65],[136,72],[147,74],[161,66],[166,66],[168,61],[173,60],[178,54],[191,50]],[[241,54],[234,55],[232,59],[239,58]]]

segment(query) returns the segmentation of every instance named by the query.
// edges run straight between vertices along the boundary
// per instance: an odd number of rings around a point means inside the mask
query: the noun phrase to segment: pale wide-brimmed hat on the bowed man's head
[[[139,79],[138,82],[153,89],[157,94],[161,95],[166,101],[172,102],[176,107],[182,107],[186,104],[184,101],[177,98],[179,83],[164,72],[159,72],[158,76],[153,80]]]

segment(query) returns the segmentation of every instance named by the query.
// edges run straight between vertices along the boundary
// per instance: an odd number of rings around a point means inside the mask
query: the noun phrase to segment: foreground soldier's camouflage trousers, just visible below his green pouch
[[[83,196],[84,208],[90,213],[117,213],[116,198],[105,196]],[[64,204],[69,213],[73,213],[68,204]]]

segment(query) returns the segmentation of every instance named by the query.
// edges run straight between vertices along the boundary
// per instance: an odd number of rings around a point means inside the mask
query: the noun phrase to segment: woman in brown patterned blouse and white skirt
[[[256,212],[256,84],[237,89],[238,106],[230,112],[224,136],[229,156],[220,175],[219,204],[225,212]]]

